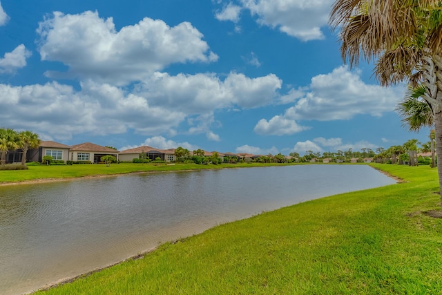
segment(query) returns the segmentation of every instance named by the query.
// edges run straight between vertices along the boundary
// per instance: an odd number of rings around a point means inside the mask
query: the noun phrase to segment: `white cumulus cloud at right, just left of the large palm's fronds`
[[[381,117],[394,111],[404,90],[404,86],[365,84],[361,73],[341,66],[332,73],[313,77],[309,90],[287,109],[285,117],[318,121],[349,120],[362,114]]]

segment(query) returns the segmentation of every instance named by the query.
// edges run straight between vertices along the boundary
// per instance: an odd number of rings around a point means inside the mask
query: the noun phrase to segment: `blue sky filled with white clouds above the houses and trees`
[[[0,127],[120,151],[288,155],[416,138],[373,64],[349,68],[332,0],[2,0]]]

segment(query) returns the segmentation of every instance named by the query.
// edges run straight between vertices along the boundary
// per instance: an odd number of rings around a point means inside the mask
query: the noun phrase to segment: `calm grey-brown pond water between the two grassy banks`
[[[0,187],[0,294],[31,292],[222,222],[394,183],[366,165],[304,165]]]

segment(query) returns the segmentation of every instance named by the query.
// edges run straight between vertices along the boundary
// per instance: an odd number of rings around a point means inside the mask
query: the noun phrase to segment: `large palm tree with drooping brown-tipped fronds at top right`
[[[407,81],[425,87],[423,99],[432,109],[442,155],[441,1],[336,0],[329,23],[341,30],[341,55],[350,67],[363,57],[376,61],[375,75],[383,86]],[[442,189],[442,161],[438,172]]]

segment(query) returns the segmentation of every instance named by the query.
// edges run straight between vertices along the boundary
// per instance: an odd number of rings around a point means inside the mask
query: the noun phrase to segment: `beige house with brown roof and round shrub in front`
[[[90,161],[93,163],[101,162],[101,158],[104,155],[113,155],[117,160],[119,151],[108,148],[106,146],[99,146],[90,142],[84,142],[83,144],[75,144],[70,147],[71,161]]]

